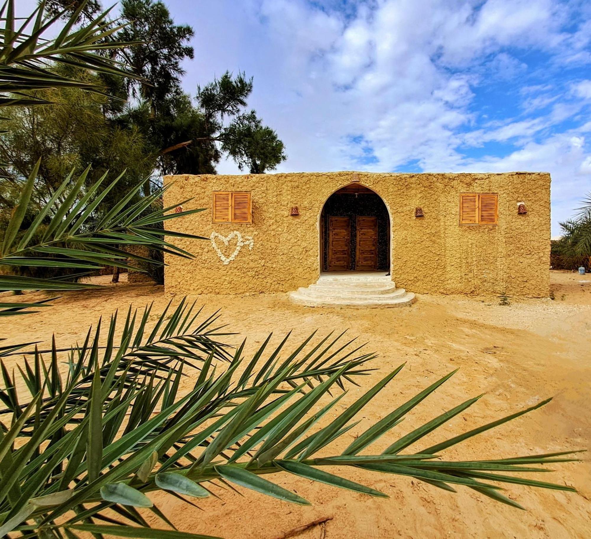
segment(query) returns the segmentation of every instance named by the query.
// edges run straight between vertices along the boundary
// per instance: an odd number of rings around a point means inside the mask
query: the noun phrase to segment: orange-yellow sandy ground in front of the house
[[[108,283],[109,278],[98,280]],[[551,288],[554,300],[511,298],[508,306],[491,297],[426,295],[419,296],[411,308],[384,310],[309,309],[290,304],[284,294],[201,296],[198,300],[208,312],[221,307],[223,322],[248,337],[249,350],[258,347],[271,331],[273,342],[278,342],[293,330],[293,347],[314,329],[323,335],[332,329],[349,329],[350,335],[368,342],[367,349],[379,353],[373,362],[379,371],[362,378],[361,389],[350,388],[343,404],[339,403],[342,407],[407,362],[364,409],[362,422],[341,444],[349,444],[370,421],[384,417],[456,368],[459,372],[380,440],[376,449],[480,393],[485,393],[484,397],[440,429],[433,440],[554,397],[545,407],[445,452],[450,459],[471,459],[589,448],[591,277],[553,271]],[[27,300],[41,297],[41,293],[27,294]],[[49,342],[51,333],[56,332],[57,342],[67,346],[82,339],[100,315],[126,309],[130,303],[142,307],[151,301],[155,309],[167,303],[163,287],[122,282],[100,291],[65,293],[39,314],[3,319],[0,335],[8,337],[6,344]],[[219,491],[220,499],[200,501],[204,511],[165,494],[157,494],[155,499],[181,530],[232,539],[273,539],[321,517],[332,517],[325,529],[310,528],[298,537],[587,538],[591,537],[591,466],[589,456],[582,458],[583,462],[558,464],[553,467],[556,472],[539,476],[573,485],[579,493],[509,487],[508,495],[527,512],[497,504],[469,489],[460,487],[454,494],[410,478],[357,469],[345,470],[342,475],[386,492],[390,498],[371,498],[280,474],[274,476],[275,482],[313,505],[290,505],[243,489],[245,496]]]

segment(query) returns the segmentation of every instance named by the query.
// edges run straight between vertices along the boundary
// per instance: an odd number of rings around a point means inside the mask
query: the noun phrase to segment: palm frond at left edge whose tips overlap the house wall
[[[131,203],[143,185],[138,183],[116,204],[102,212],[97,212],[100,204],[114,191],[121,175],[110,183],[106,174],[92,186],[86,186],[89,168],[86,168],[75,181],[68,176],[54,191],[51,198],[41,204],[35,212],[33,222],[23,228],[25,216],[31,206],[35,181],[40,161],[29,175],[18,204],[11,213],[0,247],[0,265],[17,268],[67,268],[88,273],[105,266],[128,268],[128,258],[151,264],[163,264],[126,252],[126,245],[144,245],[158,252],[189,258],[190,253],[164,240],[163,222],[183,215],[200,212],[189,210],[180,213],[167,213],[174,207],[161,207],[158,201],[168,187],[154,191],[148,197],[141,197]],[[188,202],[188,201],[184,201]],[[181,202],[181,203],[184,203]],[[196,238],[200,236],[167,230],[172,238]],[[96,288],[96,285],[75,283],[63,278],[34,278],[31,275],[0,275],[0,290],[79,290]],[[7,310],[4,314],[22,314],[27,311],[15,310],[13,306],[0,303]],[[1,316],[1,314],[0,314]]]

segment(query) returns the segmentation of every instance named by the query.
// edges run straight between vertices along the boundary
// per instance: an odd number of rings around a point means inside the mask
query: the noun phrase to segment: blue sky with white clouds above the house
[[[589,1],[165,4],[195,30],[187,92],[254,77],[278,171],[549,171],[554,236],[591,191]]]

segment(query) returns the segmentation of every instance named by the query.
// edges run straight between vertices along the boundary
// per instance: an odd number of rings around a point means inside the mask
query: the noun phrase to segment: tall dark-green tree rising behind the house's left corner
[[[255,111],[244,110],[252,79],[226,72],[198,87],[194,104],[181,89],[181,62],[193,58],[193,28],[174,24],[165,5],[153,0],[124,0],[122,17],[129,24],[118,39],[142,44],[120,54],[144,80],[128,79],[140,103],[121,120],[138,126],[150,141],[163,174],[212,174],[224,154],[251,173],[272,170],[285,160],[275,131],[263,126]]]

